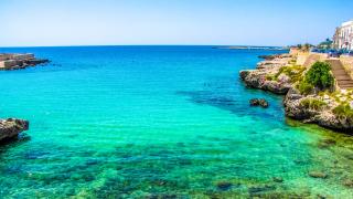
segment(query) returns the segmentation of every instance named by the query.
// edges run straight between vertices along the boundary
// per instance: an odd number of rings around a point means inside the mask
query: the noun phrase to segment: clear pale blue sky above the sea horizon
[[[0,0],[0,46],[318,43],[352,0]]]

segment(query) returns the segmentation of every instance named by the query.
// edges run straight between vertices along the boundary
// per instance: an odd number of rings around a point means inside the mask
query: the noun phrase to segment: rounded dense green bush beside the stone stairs
[[[325,62],[315,62],[307,72],[306,81],[321,91],[331,88],[334,78],[331,74],[330,64]]]

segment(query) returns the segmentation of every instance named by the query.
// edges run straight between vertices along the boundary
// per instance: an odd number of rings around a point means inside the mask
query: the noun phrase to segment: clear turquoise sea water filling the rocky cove
[[[0,116],[31,122],[20,140],[0,147],[0,198],[353,196],[343,186],[353,180],[353,139],[287,121],[280,96],[239,81],[239,70],[278,51],[0,52],[52,60],[43,67],[0,72]],[[267,98],[270,107],[250,108],[253,97]],[[335,144],[325,145],[328,139]],[[329,177],[314,179],[312,170]]]

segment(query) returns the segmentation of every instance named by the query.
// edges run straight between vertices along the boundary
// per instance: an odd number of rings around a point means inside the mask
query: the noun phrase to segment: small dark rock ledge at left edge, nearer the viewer
[[[28,121],[17,118],[0,119],[0,143],[15,138],[20,133],[28,129]]]

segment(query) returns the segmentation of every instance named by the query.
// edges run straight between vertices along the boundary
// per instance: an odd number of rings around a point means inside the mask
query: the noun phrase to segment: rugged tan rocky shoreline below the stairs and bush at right
[[[313,123],[338,132],[353,134],[353,117],[334,113],[334,109],[340,105],[340,100],[352,98],[353,92],[338,91],[334,96],[329,94],[302,95],[297,90],[296,82],[289,75],[281,73],[285,67],[289,67],[289,62],[287,56],[266,60],[260,62],[256,70],[240,71],[239,75],[248,87],[285,95],[286,116],[303,123]],[[276,76],[276,80],[269,78],[270,76]],[[315,104],[320,104],[320,106]]]

